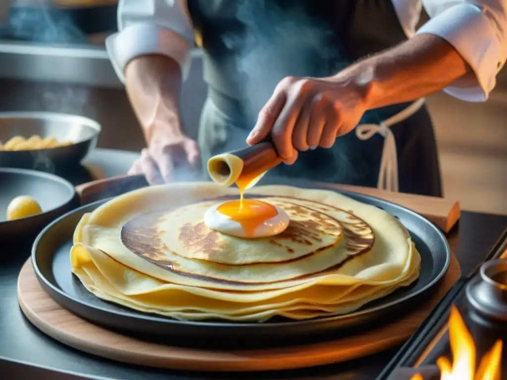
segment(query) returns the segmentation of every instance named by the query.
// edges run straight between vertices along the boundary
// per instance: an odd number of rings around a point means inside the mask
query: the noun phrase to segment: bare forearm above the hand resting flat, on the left
[[[134,58],[125,67],[125,87],[134,112],[150,143],[157,128],[181,133],[179,106],[182,74],[179,64],[163,55]]]

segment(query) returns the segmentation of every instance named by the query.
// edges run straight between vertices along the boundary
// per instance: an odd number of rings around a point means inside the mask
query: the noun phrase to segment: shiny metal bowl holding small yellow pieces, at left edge
[[[88,118],[52,112],[0,112],[0,141],[32,135],[73,144],[49,149],[0,151],[0,167],[54,170],[77,166],[97,144],[100,125]]]

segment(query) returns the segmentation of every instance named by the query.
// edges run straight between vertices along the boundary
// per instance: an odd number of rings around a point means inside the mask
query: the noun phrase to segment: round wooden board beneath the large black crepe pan
[[[402,344],[452,288],[461,271],[452,255],[439,288],[411,313],[356,335],[308,345],[259,350],[205,350],[148,343],[93,325],[61,308],[39,285],[28,260],[18,279],[18,300],[28,320],[77,350],[129,364],[201,371],[265,371],[345,362]]]

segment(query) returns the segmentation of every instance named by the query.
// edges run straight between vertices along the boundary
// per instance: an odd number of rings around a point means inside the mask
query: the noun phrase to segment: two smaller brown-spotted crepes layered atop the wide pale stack
[[[122,227],[120,237],[134,253],[163,268],[170,265],[172,272],[209,281],[243,284],[275,283],[314,275],[336,267],[355,254],[368,252],[374,245],[370,227],[353,214],[336,210],[333,217],[325,216],[322,212],[295,203],[298,201],[292,198],[268,197],[263,201],[285,208],[292,217],[297,215],[298,218],[291,220],[287,231],[276,237],[255,240],[234,238],[212,232],[203,225],[203,212],[216,201],[204,202],[178,208],[168,214],[162,213],[161,216],[159,213],[141,214]],[[201,217],[195,219],[193,210],[201,211]],[[138,225],[125,230],[132,222]],[[178,236],[182,225],[192,232],[186,231],[183,239]],[[343,242],[339,240],[342,231],[345,235]],[[116,239],[116,230],[111,234]],[[315,239],[314,243],[311,243],[312,239]],[[196,245],[203,251],[197,252],[201,253],[199,259],[182,257],[186,249]],[[293,253],[287,255],[287,249]],[[205,260],[202,253],[209,255],[209,259]],[[295,257],[291,260],[277,262],[292,254]],[[270,256],[275,258],[275,262],[266,262]],[[233,265],[215,262],[226,260]],[[241,260],[243,264],[237,265]],[[245,262],[253,263],[246,265]]]

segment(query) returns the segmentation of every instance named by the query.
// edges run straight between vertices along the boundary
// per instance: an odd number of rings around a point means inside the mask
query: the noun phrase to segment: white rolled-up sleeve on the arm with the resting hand
[[[120,0],[118,29],[105,47],[122,82],[127,63],[148,54],[173,58],[187,78],[194,31],[186,0]]]

